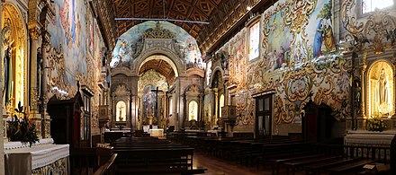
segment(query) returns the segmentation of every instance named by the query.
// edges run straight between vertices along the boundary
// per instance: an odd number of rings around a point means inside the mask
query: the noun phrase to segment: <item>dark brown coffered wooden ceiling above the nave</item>
[[[221,39],[229,38],[229,32],[236,28],[235,24],[241,20],[247,21],[247,7],[263,6],[267,8],[277,0],[92,0],[98,8],[98,19],[102,20],[103,31],[110,46],[115,39],[132,26],[142,21],[115,21],[114,18],[169,18],[210,22],[198,24],[189,22],[173,22],[189,32],[198,41],[202,53],[211,50],[220,43]],[[165,3],[165,15],[164,4]],[[263,11],[256,8],[255,11]],[[255,13],[255,12],[253,12]],[[244,19],[244,17],[247,17]],[[242,22],[241,25],[244,25]],[[109,33],[110,32],[110,33]]]

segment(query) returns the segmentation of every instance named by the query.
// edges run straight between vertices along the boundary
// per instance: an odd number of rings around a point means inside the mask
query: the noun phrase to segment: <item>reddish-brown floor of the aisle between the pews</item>
[[[266,171],[261,168],[257,170],[256,167],[249,167],[247,165],[241,165],[236,162],[224,161],[222,159],[206,155],[203,153],[193,154],[193,166],[194,167],[206,167],[208,171],[205,174],[210,175],[256,175],[256,174],[272,174],[271,167],[266,167]],[[280,171],[281,174],[286,174],[285,170]],[[304,174],[298,172],[296,175]]]

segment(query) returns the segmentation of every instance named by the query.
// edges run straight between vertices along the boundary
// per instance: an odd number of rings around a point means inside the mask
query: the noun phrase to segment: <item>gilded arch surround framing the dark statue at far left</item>
[[[13,105],[21,101],[21,104],[28,102],[28,30],[27,25],[23,20],[23,13],[13,3],[4,3],[3,10],[3,23],[2,26],[8,26],[12,29],[10,40],[11,43],[11,57],[10,57],[10,77],[13,78],[10,81],[10,93],[9,96],[14,98]],[[3,31],[3,29],[2,29]],[[1,39],[3,41],[3,39]],[[4,53],[4,52],[2,52]],[[2,63],[4,62],[4,54],[2,54]],[[3,63],[4,64],[4,63]],[[2,74],[4,75],[4,74]],[[11,79],[10,79],[11,80]],[[11,84],[12,88],[11,88]],[[17,88],[15,88],[17,87]],[[4,101],[2,99],[2,101]]]

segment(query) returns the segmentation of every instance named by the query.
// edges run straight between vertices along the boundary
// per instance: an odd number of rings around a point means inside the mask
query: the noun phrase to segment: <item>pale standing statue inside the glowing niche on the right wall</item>
[[[380,76],[375,84],[375,101],[377,102],[378,112],[387,116],[392,112],[392,97],[391,97],[391,89],[389,88],[389,80],[387,74],[385,73],[385,69],[381,69]]]

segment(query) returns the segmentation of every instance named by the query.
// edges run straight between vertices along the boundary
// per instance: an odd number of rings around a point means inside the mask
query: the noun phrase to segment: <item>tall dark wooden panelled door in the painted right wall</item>
[[[256,137],[264,138],[272,134],[272,94],[256,98]]]

